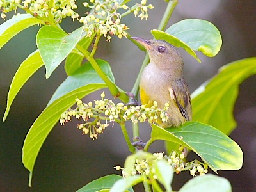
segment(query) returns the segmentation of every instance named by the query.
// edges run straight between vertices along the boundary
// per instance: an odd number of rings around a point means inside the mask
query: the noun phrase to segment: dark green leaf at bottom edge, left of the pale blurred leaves
[[[122,178],[123,177],[120,175],[107,175],[97,180],[93,180],[92,182],[86,184],[86,186],[83,186],[83,188],[77,190],[77,192],[109,191],[113,184]],[[128,191],[133,192],[133,189],[129,188]]]

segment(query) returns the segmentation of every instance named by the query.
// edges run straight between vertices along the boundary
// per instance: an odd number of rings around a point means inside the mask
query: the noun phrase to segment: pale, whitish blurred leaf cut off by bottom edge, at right
[[[195,191],[207,191],[207,192],[231,192],[230,182],[216,175],[207,174],[204,176],[194,177],[189,180],[179,192],[195,192]]]

